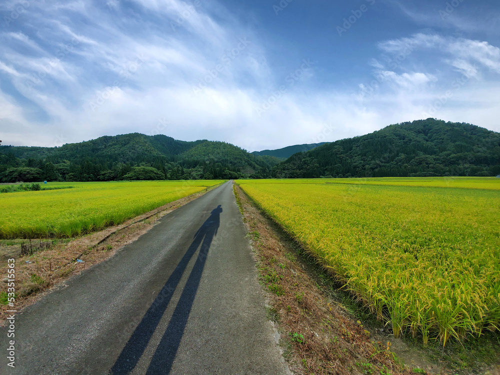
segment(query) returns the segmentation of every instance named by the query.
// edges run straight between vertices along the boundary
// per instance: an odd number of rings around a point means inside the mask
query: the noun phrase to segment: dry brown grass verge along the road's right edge
[[[235,185],[268,303],[275,314],[288,360],[297,374],[414,374],[394,360],[387,342],[370,332],[317,287],[294,251]],[[293,334],[298,335],[294,338]],[[298,338],[298,339],[297,339]],[[302,343],[299,341],[303,341]]]

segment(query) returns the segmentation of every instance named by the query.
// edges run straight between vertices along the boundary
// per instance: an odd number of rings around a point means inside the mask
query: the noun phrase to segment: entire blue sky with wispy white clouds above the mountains
[[[434,117],[500,131],[493,0],[1,0],[2,144],[248,151]]]

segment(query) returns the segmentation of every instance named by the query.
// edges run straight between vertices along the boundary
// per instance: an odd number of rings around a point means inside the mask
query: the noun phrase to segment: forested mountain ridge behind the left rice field
[[[3,182],[119,180],[143,176],[144,171],[158,176],[152,169],[132,170],[134,167],[155,168],[167,179],[264,177],[278,163],[225,142],[188,142],[139,133],[102,136],[61,147],[0,146]]]

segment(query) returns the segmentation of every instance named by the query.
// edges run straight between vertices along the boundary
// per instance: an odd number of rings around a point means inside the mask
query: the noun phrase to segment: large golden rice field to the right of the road
[[[238,183],[396,337],[500,327],[500,179]]]

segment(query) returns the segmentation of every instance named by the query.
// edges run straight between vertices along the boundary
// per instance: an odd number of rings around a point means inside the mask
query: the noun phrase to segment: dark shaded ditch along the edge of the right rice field
[[[333,286],[333,290],[326,290],[326,294],[330,295],[333,292],[336,295],[337,292],[335,290],[345,284],[345,279],[336,275],[333,269],[323,263],[320,256],[311,251],[309,246],[297,239],[271,212],[264,209],[241,186],[238,185],[237,189],[266,218],[271,228],[277,228],[275,230],[278,231],[278,236],[284,238],[284,242],[291,241],[291,246],[289,247],[301,255],[302,259],[299,260],[303,261],[305,269],[309,269],[313,278],[319,277],[321,279],[316,280],[316,282],[321,284],[323,273],[330,277],[332,281],[334,280],[333,283],[330,283]],[[361,306],[360,302],[357,302],[355,293],[346,290],[346,288],[341,288],[340,290],[342,290],[341,293],[345,296],[340,296],[340,299],[337,296],[337,300],[344,307],[347,307],[349,312],[354,313],[356,317],[361,316],[361,320],[366,322],[366,329],[374,333],[374,336],[377,336],[379,341],[390,342],[389,351],[398,355],[405,363],[413,363],[415,361],[414,364],[420,368],[425,368],[430,373],[469,375],[471,373],[469,371],[472,371],[478,374],[500,375],[500,356],[497,352],[495,353],[494,349],[498,347],[497,344],[500,341],[498,341],[494,333],[486,331],[478,338],[468,337],[468,340],[465,342],[451,341],[448,342],[446,347],[443,347],[437,341],[431,341],[428,346],[422,346],[422,343],[412,338],[410,334],[400,338],[393,337],[390,322],[384,324],[377,321],[375,315],[372,313],[368,314],[366,306]],[[345,301],[347,301],[346,304]],[[465,367],[463,366],[464,357],[468,358],[466,362],[467,366]]]

